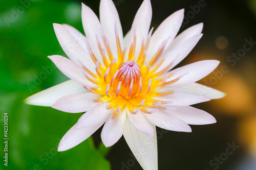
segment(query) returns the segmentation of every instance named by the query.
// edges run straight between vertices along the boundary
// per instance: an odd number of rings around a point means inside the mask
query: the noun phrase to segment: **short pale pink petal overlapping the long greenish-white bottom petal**
[[[147,122],[145,116],[142,112],[137,114],[132,114],[130,111],[127,111],[130,123],[139,131],[147,134],[148,136],[154,137],[155,131],[154,128]]]

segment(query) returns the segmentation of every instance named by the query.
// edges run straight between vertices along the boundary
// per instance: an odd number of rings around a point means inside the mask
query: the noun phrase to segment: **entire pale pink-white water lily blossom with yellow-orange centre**
[[[86,36],[72,26],[54,23],[57,39],[69,59],[59,55],[49,58],[71,80],[30,96],[26,103],[85,112],[63,136],[58,151],[75,147],[104,124],[101,139],[105,147],[111,147],[123,135],[142,168],[155,170],[155,126],[191,132],[188,124],[216,122],[209,113],[189,105],[224,96],[195,83],[213,71],[219,61],[203,60],[173,69],[202,37],[203,23],[176,36],[183,17],[184,9],[173,13],[152,34],[151,2],[144,0],[131,30],[123,37],[114,3],[101,0],[100,21],[82,4]]]

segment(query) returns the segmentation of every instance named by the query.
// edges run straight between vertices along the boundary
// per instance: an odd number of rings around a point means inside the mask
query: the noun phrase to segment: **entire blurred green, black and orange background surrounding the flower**
[[[21,11],[16,18],[12,18],[13,10],[26,6],[19,1],[0,0],[0,123],[3,127],[4,112],[8,112],[10,138],[9,166],[3,166],[1,161],[0,167],[141,169],[123,137],[110,150],[102,147],[101,129],[93,135],[93,139],[90,138],[69,151],[55,152],[59,139],[76,123],[81,114],[29,106],[23,100],[68,80],[47,58],[54,54],[65,56],[52,23],[68,23],[83,32],[81,1],[29,2],[29,7],[24,12]],[[99,0],[82,2],[99,14]],[[214,115],[216,124],[191,126],[192,133],[157,129],[159,169],[256,169],[256,44],[239,59],[229,57],[243,49],[245,39],[256,42],[256,1],[208,0],[196,12],[193,8],[199,1],[151,2],[151,26],[155,29],[167,16],[182,8],[185,9],[185,20],[180,32],[204,22],[202,39],[179,65],[205,59],[221,61],[215,72],[200,83],[227,93],[223,99],[195,105]],[[114,3],[125,34],[130,30],[142,1],[114,0]],[[6,21],[6,17],[12,20]],[[47,66],[51,66],[52,71],[47,74],[47,78],[35,84],[34,81]],[[227,69],[223,71],[222,66]],[[239,148],[227,155],[226,149],[232,143]],[[4,145],[0,146],[3,159]],[[49,152],[50,157],[45,152]],[[221,157],[219,163],[218,157]]]

